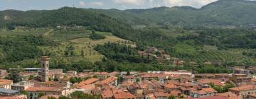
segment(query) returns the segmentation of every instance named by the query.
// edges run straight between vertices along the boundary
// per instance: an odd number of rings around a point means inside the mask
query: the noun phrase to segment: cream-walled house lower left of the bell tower
[[[30,81],[20,81],[18,83],[14,83],[11,85],[12,90],[17,90],[17,91],[24,91],[28,87],[33,87],[34,83]]]

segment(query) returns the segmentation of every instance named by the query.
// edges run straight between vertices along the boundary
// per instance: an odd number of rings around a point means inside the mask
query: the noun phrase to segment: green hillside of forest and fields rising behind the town
[[[47,55],[51,68],[64,71],[226,73],[227,66],[256,65],[254,9],[255,1],[220,0],[202,8],[0,11],[0,65],[38,66],[37,58]],[[148,47],[186,64],[139,57],[137,51]]]

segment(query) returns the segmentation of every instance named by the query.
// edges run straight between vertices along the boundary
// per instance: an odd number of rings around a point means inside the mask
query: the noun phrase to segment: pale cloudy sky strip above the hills
[[[50,10],[63,6],[75,6],[76,8],[102,8],[110,9],[144,9],[160,6],[192,6],[201,8],[217,0],[0,0],[0,11],[15,9]]]

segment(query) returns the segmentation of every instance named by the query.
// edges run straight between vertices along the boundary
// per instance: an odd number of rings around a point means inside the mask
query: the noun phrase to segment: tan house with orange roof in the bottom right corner
[[[241,95],[242,98],[247,98],[248,95],[256,93],[256,86],[238,86],[235,88],[229,88],[228,91],[235,93],[236,95]]]

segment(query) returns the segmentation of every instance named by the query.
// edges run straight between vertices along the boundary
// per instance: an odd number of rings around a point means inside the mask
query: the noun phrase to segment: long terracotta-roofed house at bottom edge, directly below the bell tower
[[[28,92],[28,99],[38,99],[38,95],[66,95],[63,88],[56,87],[29,87],[25,91]]]

